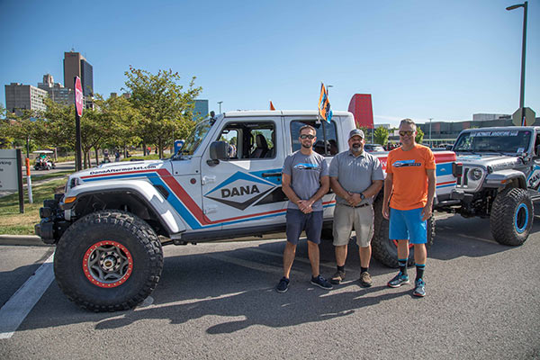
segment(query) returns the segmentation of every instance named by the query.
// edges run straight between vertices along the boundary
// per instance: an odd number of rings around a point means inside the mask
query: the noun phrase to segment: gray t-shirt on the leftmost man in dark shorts
[[[285,157],[283,173],[291,176],[291,188],[301,200],[309,200],[320,188],[320,177],[329,175],[329,166],[324,157],[316,152],[303,155],[300,150]],[[288,209],[298,210],[298,205],[289,202]],[[311,205],[313,211],[322,211],[322,199]]]

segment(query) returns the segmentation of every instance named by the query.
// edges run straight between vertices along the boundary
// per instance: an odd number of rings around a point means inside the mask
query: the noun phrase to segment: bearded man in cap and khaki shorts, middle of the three
[[[345,279],[347,245],[353,228],[360,256],[360,284],[373,284],[368,273],[371,260],[371,238],[374,234],[374,196],[383,187],[383,167],[378,158],[364,150],[364,131],[349,133],[347,151],[332,159],[329,169],[330,185],[336,193],[334,210],[334,246],[338,271],[330,278],[332,284]]]

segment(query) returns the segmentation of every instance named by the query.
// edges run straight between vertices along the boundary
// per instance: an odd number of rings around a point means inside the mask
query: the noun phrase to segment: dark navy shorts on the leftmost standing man
[[[287,221],[287,241],[294,245],[298,244],[302,230],[305,230],[308,240],[315,244],[320,243],[322,211],[312,211],[305,214],[300,210],[287,209],[285,218]]]

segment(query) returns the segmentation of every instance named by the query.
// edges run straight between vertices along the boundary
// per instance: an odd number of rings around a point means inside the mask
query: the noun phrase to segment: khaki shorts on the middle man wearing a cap
[[[374,236],[374,207],[371,205],[353,208],[337,203],[334,209],[334,246],[347,245],[353,227],[356,231],[356,244],[369,247]]]

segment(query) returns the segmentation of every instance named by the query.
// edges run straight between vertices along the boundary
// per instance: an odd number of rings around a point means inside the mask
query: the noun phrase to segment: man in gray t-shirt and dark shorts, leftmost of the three
[[[287,205],[287,242],[284,249],[284,277],[275,290],[285,293],[289,288],[289,275],[293,267],[296,245],[306,231],[308,256],[311,263],[311,284],[322,289],[332,285],[319,273],[319,243],[322,229],[322,197],[329,192],[329,168],[324,157],[313,151],[317,131],[310,125],[300,129],[302,148],[285,158],[282,188],[289,198]]]

